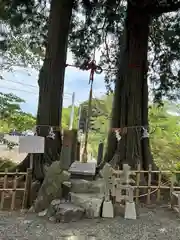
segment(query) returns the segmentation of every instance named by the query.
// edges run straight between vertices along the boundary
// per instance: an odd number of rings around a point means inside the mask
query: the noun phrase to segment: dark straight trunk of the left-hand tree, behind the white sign
[[[34,154],[34,177],[44,178],[44,165],[60,159],[61,114],[68,32],[74,0],[52,0],[49,15],[46,55],[39,74],[37,134],[45,137],[45,153]],[[47,138],[53,127],[55,139]],[[24,160],[26,167],[29,156]],[[23,163],[21,163],[22,167]]]

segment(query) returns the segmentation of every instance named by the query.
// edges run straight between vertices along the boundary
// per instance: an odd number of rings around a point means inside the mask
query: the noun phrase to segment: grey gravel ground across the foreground
[[[71,237],[76,236],[76,237]],[[0,212],[0,240],[179,240],[180,219],[167,208],[142,208],[137,220],[51,223],[35,214]]]

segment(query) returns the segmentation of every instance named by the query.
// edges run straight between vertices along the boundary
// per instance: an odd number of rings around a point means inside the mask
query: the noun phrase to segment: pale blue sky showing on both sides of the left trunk
[[[96,56],[99,61],[99,54]],[[67,63],[73,64],[72,54],[68,52]],[[37,112],[38,104],[38,71],[31,68],[15,67],[13,72],[1,72],[3,80],[0,79],[0,92],[14,93],[25,100],[22,109],[25,112]],[[75,105],[85,101],[89,96],[89,72],[81,71],[73,67],[67,67],[65,73],[64,102],[63,106],[71,105],[72,93],[75,92]],[[93,84],[93,97],[100,97],[106,93],[104,75],[95,74]]]

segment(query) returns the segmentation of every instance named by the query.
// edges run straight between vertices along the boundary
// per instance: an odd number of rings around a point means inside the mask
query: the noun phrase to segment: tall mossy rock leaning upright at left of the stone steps
[[[62,197],[62,183],[68,181],[70,174],[60,167],[59,161],[53,162],[47,170],[47,174],[35,200],[35,212],[47,209],[54,199]]]

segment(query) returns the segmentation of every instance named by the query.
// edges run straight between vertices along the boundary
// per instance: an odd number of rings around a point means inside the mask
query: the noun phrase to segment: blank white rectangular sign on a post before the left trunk
[[[44,137],[19,137],[19,153],[44,153]]]

